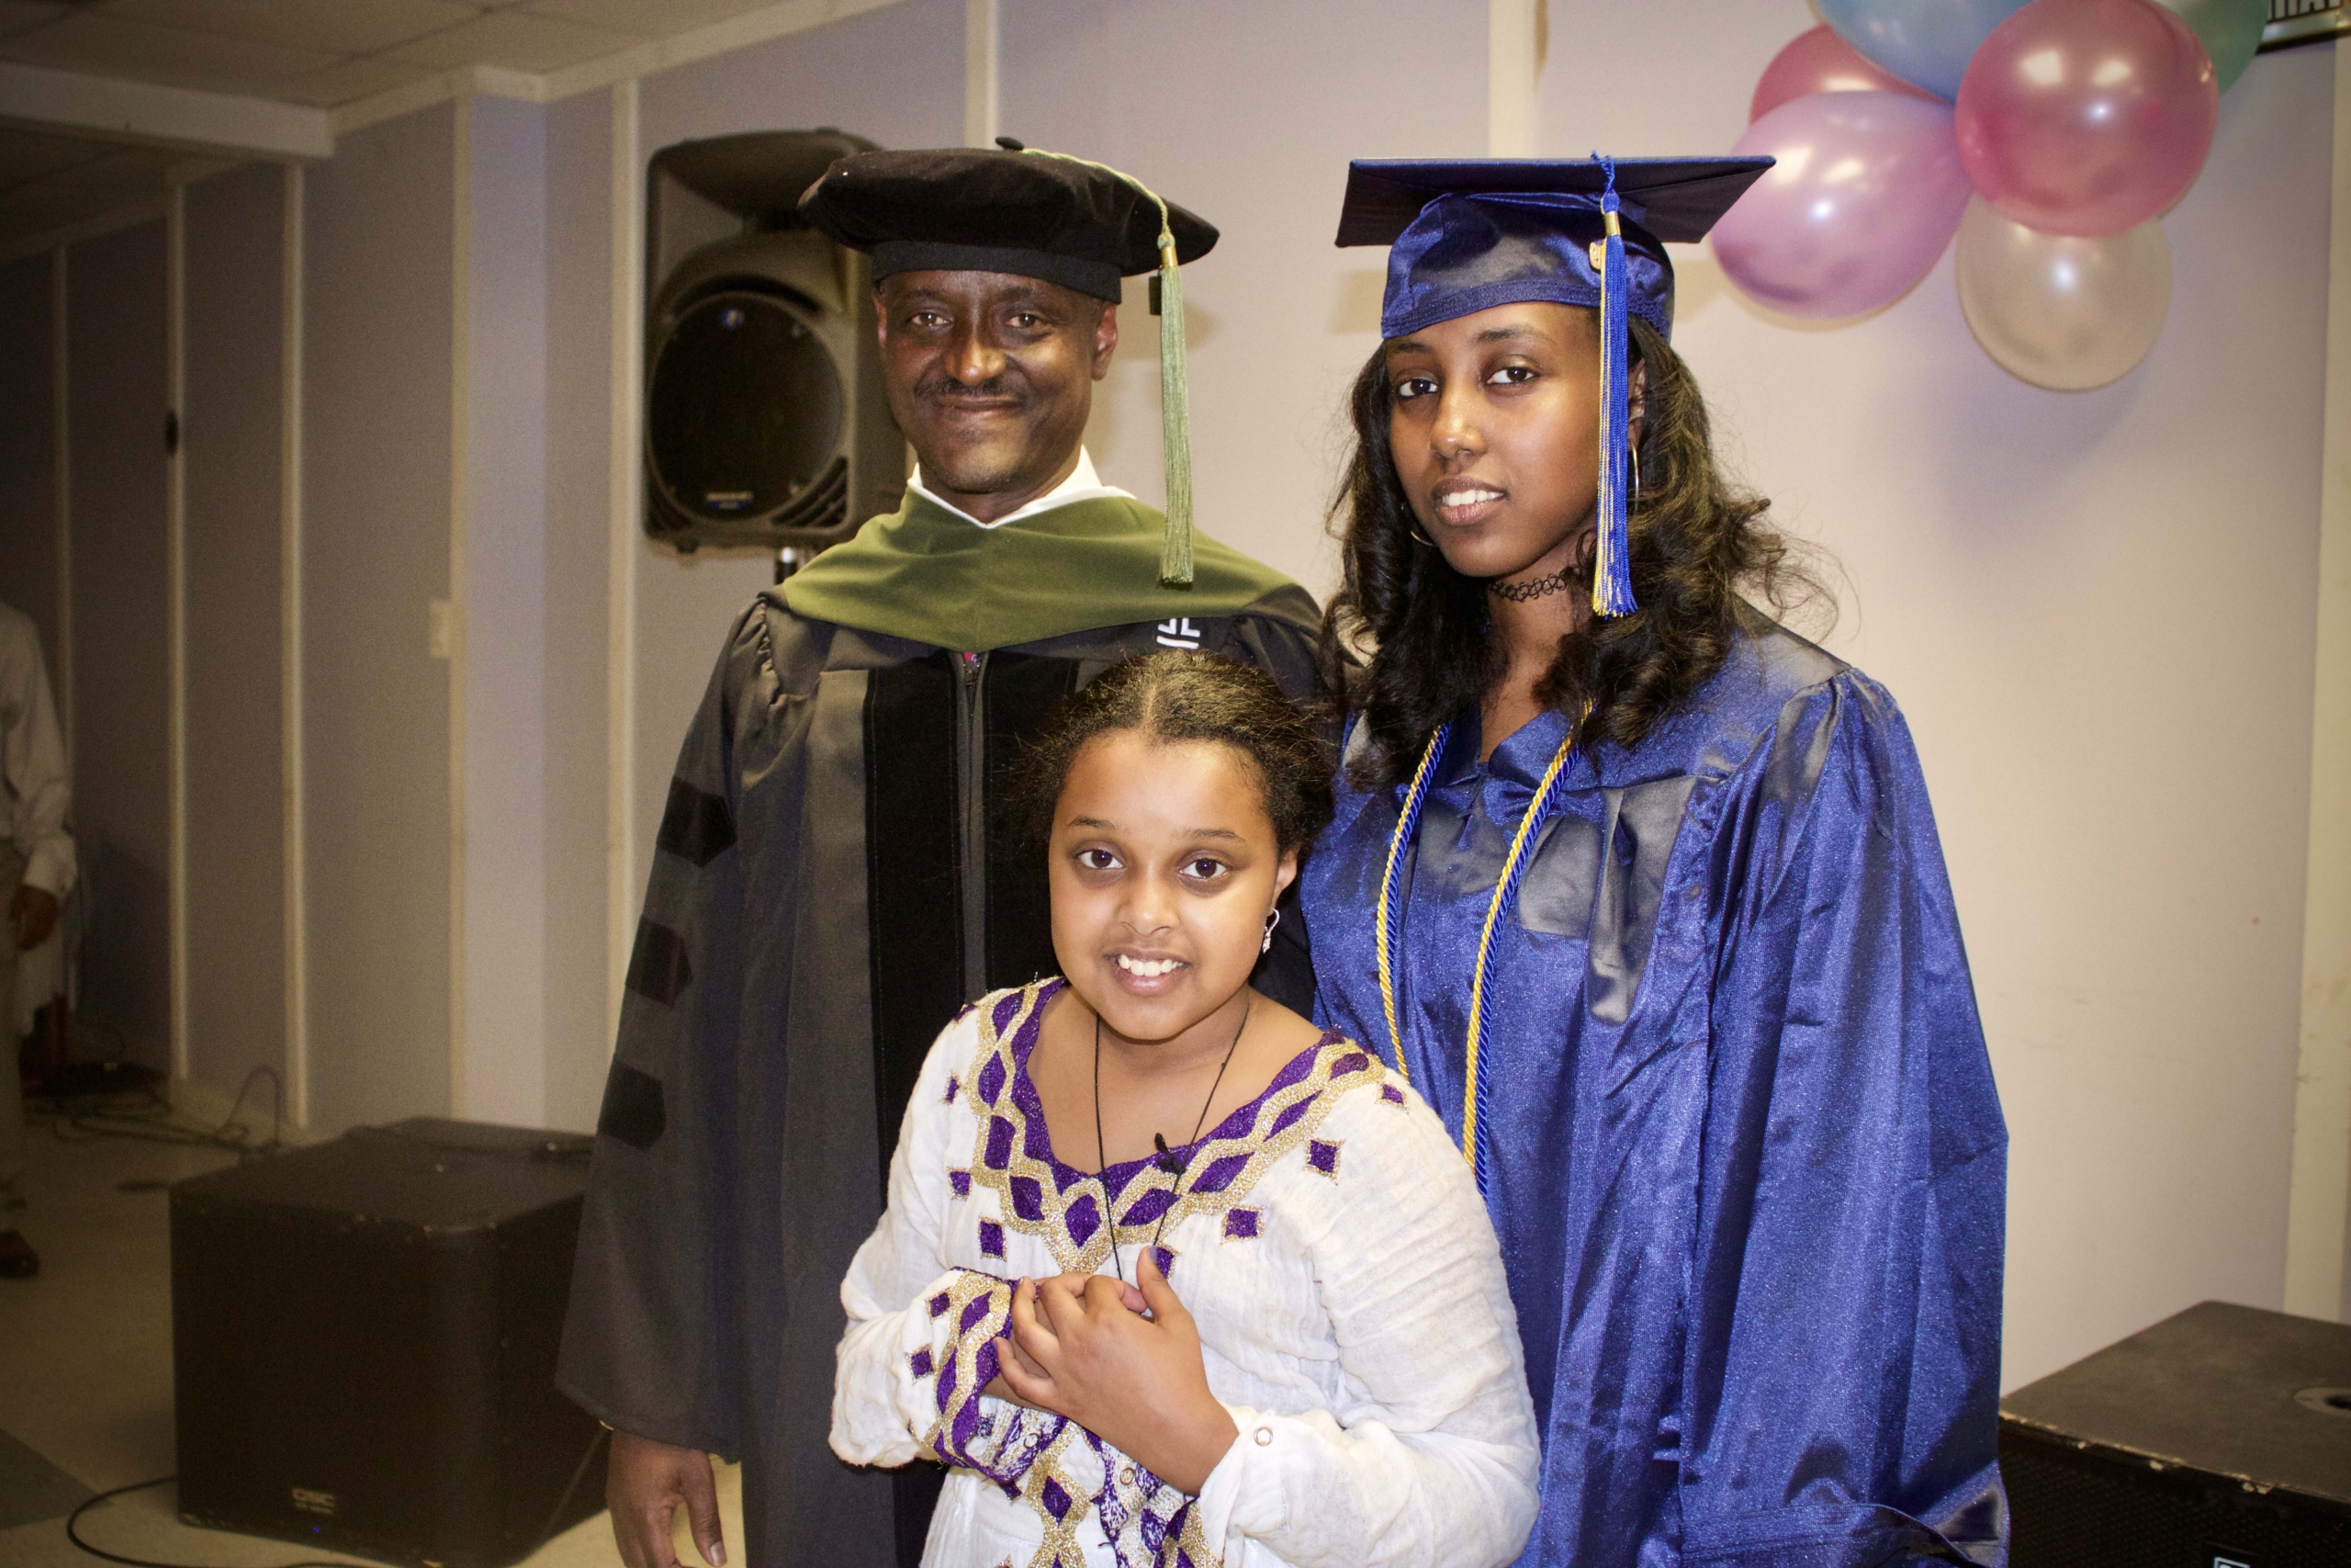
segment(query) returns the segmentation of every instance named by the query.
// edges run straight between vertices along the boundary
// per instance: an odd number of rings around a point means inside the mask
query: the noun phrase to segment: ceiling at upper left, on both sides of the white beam
[[[461,66],[552,73],[773,0],[0,0],[0,61],[343,108]],[[0,252],[228,167],[7,125]]]

